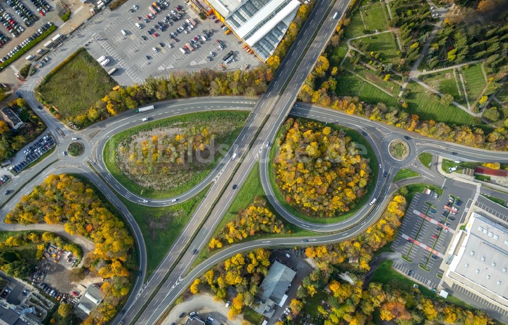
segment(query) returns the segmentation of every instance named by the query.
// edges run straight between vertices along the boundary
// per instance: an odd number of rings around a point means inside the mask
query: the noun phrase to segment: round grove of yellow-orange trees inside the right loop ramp
[[[273,168],[285,200],[316,217],[350,211],[366,194],[369,162],[343,130],[289,118]]]

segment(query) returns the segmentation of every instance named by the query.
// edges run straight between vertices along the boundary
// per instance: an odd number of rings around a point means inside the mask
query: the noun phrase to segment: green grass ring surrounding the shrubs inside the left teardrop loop
[[[170,198],[181,194],[205,179],[218,164],[220,159],[224,157],[227,150],[219,150],[220,146],[227,149],[231,147],[235,139],[238,137],[245,120],[247,119],[248,112],[244,111],[207,111],[200,113],[191,113],[175,117],[169,117],[162,120],[144,123],[133,128],[127,129],[123,132],[115,134],[111,137],[106,145],[104,146],[103,156],[104,163],[108,168],[108,171],[113,177],[120,182],[125,188],[131,192],[142,195],[146,198],[162,199]],[[167,177],[158,181],[160,187],[166,186],[165,189],[159,189],[154,187],[143,186],[133,181],[130,175],[126,174],[117,165],[117,148],[124,142],[129,142],[131,137],[136,136],[139,133],[149,133],[151,129],[170,129],[174,127],[194,127],[195,125],[212,125],[209,129],[220,124],[220,121],[234,121],[234,129],[231,129],[228,133],[221,133],[214,137],[213,148],[216,150],[212,161],[206,164],[193,164],[186,163],[186,168],[179,168],[179,166],[171,165],[172,173],[168,173]],[[120,160],[122,161],[122,160]],[[157,165],[156,165],[157,164]],[[131,165],[132,166],[132,165]],[[138,166],[134,165],[136,168]],[[165,166],[164,163],[154,163],[150,166],[150,172],[147,177],[154,179],[154,175],[161,175],[161,168]],[[129,168],[129,166],[125,167]],[[157,174],[158,173],[158,174]],[[134,173],[133,175],[137,175]],[[165,176],[162,174],[162,176]]]

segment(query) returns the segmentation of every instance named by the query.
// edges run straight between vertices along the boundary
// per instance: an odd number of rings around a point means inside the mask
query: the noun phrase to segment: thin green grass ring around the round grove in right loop
[[[302,119],[302,118],[300,118],[300,119]],[[362,135],[360,135],[358,132],[354,131],[353,129],[350,129],[347,127],[340,127],[336,124],[330,124],[329,126],[333,127],[334,129],[337,129],[337,130],[340,130],[340,129],[343,130],[348,136],[351,137],[352,141],[365,147],[365,149],[366,149],[365,156],[369,160],[369,166],[371,169],[371,180],[369,181],[368,185],[366,186],[366,193],[365,193],[364,197],[356,203],[356,206],[351,206],[351,210],[348,211],[347,213],[337,215],[337,216],[331,217],[331,218],[311,217],[311,216],[308,216],[308,215],[302,213],[300,210],[298,210],[297,208],[290,205],[287,201],[285,201],[284,194],[279,190],[279,188],[275,182],[274,170],[272,168],[273,167],[272,161],[275,157],[275,153],[278,148],[278,146],[277,146],[278,140],[274,141],[274,144],[270,150],[270,168],[268,170],[268,176],[270,178],[270,184],[271,184],[272,189],[274,191],[275,198],[285,209],[287,209],[293,215],[299,217],[302,220],[306,220],[309,222],[335,223],[335,222],[339,222],[341,220],[345,220],[345,219],[351,217],[352,215],[354,215],[358,209],[360,209],[365,204],[367,204],[367,202],[369,200],[369,195],[375,186],[375,180],[377,179],[377,173],[379,172],[378,167],[377,167],[377,158],[376,158],[375,152],[372,149],[372,147],[370,146],[370,144],[365,140],[365,138]],[[282,130],[279,129],[276,139],[279,139],[279,137],[281,136],[281,131]]]

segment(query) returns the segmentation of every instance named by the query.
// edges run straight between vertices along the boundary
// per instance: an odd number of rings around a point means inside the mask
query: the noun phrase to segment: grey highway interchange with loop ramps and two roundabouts
[[[347,8],[347,4],[347,0],[337,0],[333,5],[331,0],[317,1],[314,10],[302,27],[302,32],[298,35],[297,40],[277,70],[267,92],[259,100],[254,101],[243,98],[196,98],[157,103],[155,104],[156,110],[154,111],[141,114],[136,114],[133,111],[124,112],[119,116],[101,121],[80,131],[72,131],[46,111],[36,110],[42,120],[48,125],[48,129],[54,133],[58,148],[42,163],[23,171],[11,181],[9,186],[15,190],[20,189],[20,191],[10,197],[0,199],[0,203],[3,204],[0,214],[5,216],[19,201],[22,194],[29,192],[31,188],[39,184],[49,173],[82,174],[96,184],[105,193],[108,200],[125,216],[125,220],[131,226],[140,251],[140,269],[145,274],[146,248],[141,231],[130,212],[116,197],[116,194],[138,204],[164,206],[180,203],[193,197],[214,180],[207,195],[190,218],[189,223],[175,240],[169,252],[148,281],[143,283],[143,277],[137,278],[129,301],[125,305],[126,313],[121,317],[118,316],[113,321],[114,324],[119,323],[120,320],[129,323],[134,322],[134,319],[136,319],[135,323],[153,324],[160,319],[160,316],[171,302],[188,287],[196,276],[199,276],[217,262],[223,261],[233,254],[258,247],[317,245],[338,242],[358,236],[382,213],[390,194],[396,188],[392,185],[394,175],[400,168],[410,166],[410,164],[418,161],[417,156],[421,152],[431,152],[454,159],[459,158],[471,161],[504,162],[508,159],[508,153],[504,152],[491,152],[455,144],[445,144],[438,140],[410,134],[402,129],[370,121],[359,116],[347,115],[342,112],[301,103],[297,103],[295,106],[296,96],[302,83],[312,70],[317,57],[321,54],[335,30],[337,20],[332,18],[333,14],[335,12],[342,14]],[[330,8],[330,6],[333,8]],[[91,26],[89,28],[90,32],[95,29],[100,30],[101,22],[93,22]],[[82,32],[80,35],[83,36],[85,34]],[[83,45],[86,41],[86,37],[70,40],[69,44],[60,49],[61,57],[54,59],[48,67],[43,68],[41,73],[48,72],[48,69],[52,69],[61,59],[74,51],[76,46]],[[37,81],[35,78],[29,79],[20,88],[23,97],[34,108],[39,105],[33,92]],[[210,175],[189,191],[174,198],[161,200],[143,198],[125,189],[107,171],[102,156],[105,143],[114,134],[142,123],[141,118],[161,119],[179,114],[217,109],[249,110],[251,114],[235,141],[234,147],[219,162]],[[276,201],[273,189],[268,181],[270,147],[267,147],[266,143],[273,143],[278,127],[290,113],[294,116],[336,123],[367,133],[367,141],[376,151],[376,158],[380,165],[378,178],[373,180],[376,182],[375,188],[371,193],[372,198],[378,198],[375,205],[365,205],[365,207],[362,207],[354,216],[347,220],[334,224],[326,224],[301,220],[285,210]],[[403,161],[398,161],[389,155],[387,150],[388,144],[393,139],[403,138],[404,135],[411,137],[410,140],[407,140],[410,154]],[[84,143],[85,152],[82,156],[74,158],[61,154],[62,149],[71,141],[71,137],[78,137]],[[452,152],[457,154],[453,155]],[[230,156],[233,153],[237,153],[239,158],[231,160]],[[193,255],[191,252],[195,249],[200,250],[206,247],[215,227],[236,196],[237,192],[232,189],[231,184],[238,184],[238,188],[240,188],[257,161],[261,163],[260,172],[263,188],[276,211],[282,217],[301,228],[315,231],[316,236],[305,238],[308,239],[308,242],[305,243],[302,242],[304,238],[276,238],[237,244],[221,250],[189,272],[190,265],[192,265],[196,258],[196,255]],[[89,163],[93,169],[98,171],[102,178],[92,171],[90,165],[88,165]],[[388,177],[383,176],[385,171],[389,173]],[[432,174],[433,172],[430,171],[428,173]],[[103,179],[108,184],[105,184]],[[386,193],[385,190],[387,191]],[[173,199],[178,199],[178,201],[171,202]],[[317,233],[328,234],[317,236]]]

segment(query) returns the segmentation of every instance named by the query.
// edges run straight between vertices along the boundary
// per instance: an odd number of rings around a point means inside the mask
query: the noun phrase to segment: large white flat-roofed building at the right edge
[[[508,306],[508,229],[473,212],[454,255],[447,277]]]

